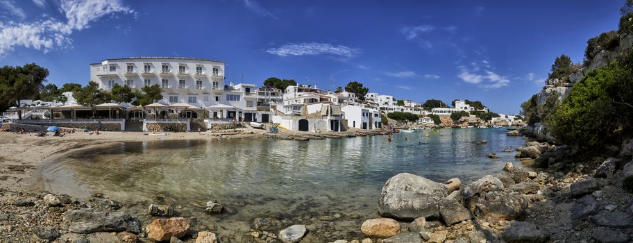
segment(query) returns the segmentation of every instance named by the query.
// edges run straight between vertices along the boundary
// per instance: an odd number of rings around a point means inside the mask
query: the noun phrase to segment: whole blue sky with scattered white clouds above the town
[[[618,27],[623,1],[0,0],[0,65],[85,84],[130,56],[226,62],[226,78],[324,89],[360,81],[396,99],[480,100],[516,113],[561,53]]]

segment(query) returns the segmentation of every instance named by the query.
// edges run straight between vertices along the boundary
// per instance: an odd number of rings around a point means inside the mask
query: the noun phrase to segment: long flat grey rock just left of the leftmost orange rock
[[[140,232],[139,221],[126,212],[109,212],[87,208],[70,210],[63,215],[68,231],[80,234],[94,232]],[[169,239],[169,238],[168,238]]]

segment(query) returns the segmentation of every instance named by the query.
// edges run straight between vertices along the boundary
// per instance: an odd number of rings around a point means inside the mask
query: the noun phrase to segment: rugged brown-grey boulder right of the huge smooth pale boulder
[[[521,219],[530,200],[518,192],[488,192],[477,199],[475,213],[488,219]]]

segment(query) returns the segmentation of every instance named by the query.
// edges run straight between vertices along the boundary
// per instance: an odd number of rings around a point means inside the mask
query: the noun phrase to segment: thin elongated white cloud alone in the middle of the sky
[[[351,57],[360,53],[360,49],[343,45],[333,46],[332,44],[326,43],[304,42],[284,44],[278,48],[270,48],[266,50],[266,52],[277,56],[318,56],[321,54],[330,54]]]

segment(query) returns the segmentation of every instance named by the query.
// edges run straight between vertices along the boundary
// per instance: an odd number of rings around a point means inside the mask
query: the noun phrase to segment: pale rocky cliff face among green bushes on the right
[[[605,67],[610,62],[613,62],[618,58],[623,50],[633,47],[633,34],[623,33],[620,35],[620,44],[614,48],[605,50],[598,46],[589,53],[591,60],[584,65],[577,72],[570,74],[567,81],[563,81],[559,78],[550,78],[546,80],[546,85],[543,90],[537,94],[537,105],[543,106],[550,95],[556,95],[559,100],[567,97],[573,85],[580,81],[589,71],[600,67]],[[557,143],[555,137],[548,133],[545,124],[536,123],[532,126],[528,125],[525,131],[539,140]]]

